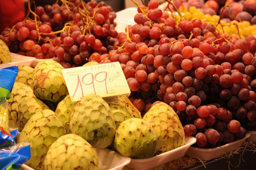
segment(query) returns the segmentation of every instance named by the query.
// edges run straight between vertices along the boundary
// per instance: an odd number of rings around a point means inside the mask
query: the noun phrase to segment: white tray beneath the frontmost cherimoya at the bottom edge
[[[99,157],[99,170],[121,170],[125,165],[131,162],[131,158],[120,155],[115,151],[108,150],[107,148],[95,149]],[[34,170],[28,165],[22,165],[23,170]]]

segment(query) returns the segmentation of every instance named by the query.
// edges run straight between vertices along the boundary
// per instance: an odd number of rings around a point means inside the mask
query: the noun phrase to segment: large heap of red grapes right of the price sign
[[[244,138],[256,128],[256,38],[220,33],[200,19],[177,22],[158,5],[138,6],[127,42],[108,53],[107,62],[121,64],[129,99],[142,114],[169,104],[198,147]]]

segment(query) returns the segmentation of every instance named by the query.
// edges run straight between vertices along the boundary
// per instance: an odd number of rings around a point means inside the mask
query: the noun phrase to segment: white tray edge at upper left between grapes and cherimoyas
[[[10,65],[18,66],[18,65],[28,65],[30,66],[32,61],[34,61],[35,57],[22,56],[19,54],[11,53],[11,62]]]

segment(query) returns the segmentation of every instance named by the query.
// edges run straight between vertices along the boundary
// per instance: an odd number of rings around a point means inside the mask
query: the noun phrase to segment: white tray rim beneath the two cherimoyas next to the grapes
[[[145,159],[131,159],[131,163],[127,166],[135,170],[145,170],[157,167],[158,165],[170,162],[171,160],[181,158],[186,153],[187,149],[196,142],[194,137],[186,137],[185,145],[175,148],[174,150],[164,152],[162,154]]]

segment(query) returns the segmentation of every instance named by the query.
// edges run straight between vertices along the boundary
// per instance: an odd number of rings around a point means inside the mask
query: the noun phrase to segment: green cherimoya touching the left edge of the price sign
[[[60,63],[51,59],[37,63],[32,78],[32,89],[37,98],[58,103],[68,95],[62,69]]]

